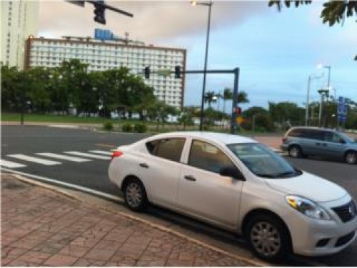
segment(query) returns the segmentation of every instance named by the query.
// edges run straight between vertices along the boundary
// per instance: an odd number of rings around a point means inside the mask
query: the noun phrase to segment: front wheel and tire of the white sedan
[[[268,262],[282,259],[291,252],[288,229],[270,214],[254,216],[247,224],[246,238],[253,253]]]

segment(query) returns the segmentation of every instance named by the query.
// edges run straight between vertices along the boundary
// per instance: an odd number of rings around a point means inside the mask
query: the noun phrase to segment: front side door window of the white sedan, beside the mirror
[[[221,149],[198,140],[193,140],[191,144],[188,165],[218,174],[223,167],[235,167],[231,159]]]

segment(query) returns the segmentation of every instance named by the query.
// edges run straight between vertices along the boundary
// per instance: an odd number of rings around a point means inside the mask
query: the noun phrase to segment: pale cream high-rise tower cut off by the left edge
[[[24,47],[28,36],[36,36],[39,1],[1,0],[1,62],[24,67]]]

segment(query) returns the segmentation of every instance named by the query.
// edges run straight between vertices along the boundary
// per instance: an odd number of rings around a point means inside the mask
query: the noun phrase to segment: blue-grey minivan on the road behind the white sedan
[[[283,137],[281,149],[290,157],[326,157],[340,159],[348,164],[357,163],[357,142],[333,129],[296,126]]]

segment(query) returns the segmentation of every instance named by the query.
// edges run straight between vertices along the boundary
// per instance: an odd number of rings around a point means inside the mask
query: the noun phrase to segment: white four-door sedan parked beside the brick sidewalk
[[[246,137],[159,134],[119,147],[109,178],[130,209],[151,202],[243,234],[266,260],[333,254],[356,238],[356,204],[345,189]]]

